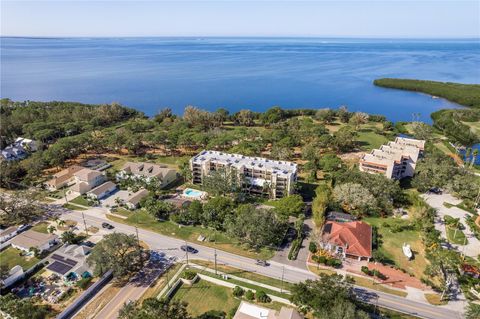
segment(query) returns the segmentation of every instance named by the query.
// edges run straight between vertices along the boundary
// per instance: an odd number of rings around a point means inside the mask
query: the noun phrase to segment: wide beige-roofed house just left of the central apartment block
[[[176,181],[178,179],[178,173],[174,169],[164,165],[128,162],[125,163],[116,177],[118,181],[134,179],[142,180],[146,183],[150,183],[155,179],[159,183],[160,189],[162,189]]]

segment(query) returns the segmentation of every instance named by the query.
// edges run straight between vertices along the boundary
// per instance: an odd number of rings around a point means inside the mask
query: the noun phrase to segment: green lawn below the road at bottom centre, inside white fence
[[[232,289],[217,286],[205,280],[199,280],[192,286],[181,285],[173,296],[173,300],[187,302],[188,312],[195,317],[209,310],[228,313],[240,304],[240,300],[233,297]]]

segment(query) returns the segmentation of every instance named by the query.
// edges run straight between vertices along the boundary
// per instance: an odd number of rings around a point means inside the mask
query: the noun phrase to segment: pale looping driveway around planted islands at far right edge
[[[478,240],[470,227],[467,224],[467,216],[471,216],[470,213],[460,209],[458,207],[452,206],[447,208],[443,203],[449,203],[452,205],[458,205],[462,201],[450,194],[423,194],[421,195],[425,201],[437,210],[437,216],[435,217],[435,229],[441,232],[443,238],[447,238],[447,232],[445,229],[445,222],[443,220],[445,215],[450,215],[454,218],[460,218],[460,222],[465,226],[463,232],[467,237],[468,243],[464,245],[449,244],[450,248],[463,252],[465,255],[470,257],[477,257],[480,254],[480,240]]]

